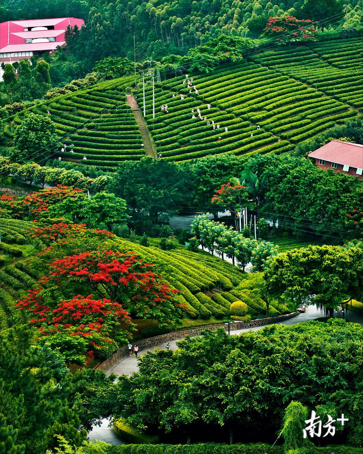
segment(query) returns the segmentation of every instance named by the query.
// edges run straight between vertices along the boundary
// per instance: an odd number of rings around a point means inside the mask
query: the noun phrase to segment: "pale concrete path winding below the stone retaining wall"
[[[303,321],[314,320],[318,317],[324,317],[324,313],[317,309],[316,306],[308,306],[306,311],[302,314],[294,318],[290,318],[286,321],[278,323],[278,325],[295,325],[296,323],[301,323]],[[363,325],[363,317],[356,312],[348,311],[346,314],[346,320],[352,321],[354,323],[360,323]],[[257,326],[255,328],[247,328],[245,330],[236,330],[231,331],[231,335],[238,335],[244,333],[246,331],[258,331],[265,328],[265,326]],[[155,348],[163,350],[166,348],[167,344],[170,344],[170,350],[177,349],[177,342],[178,341],[169,341],[165,342],[164,344],[159,344],[156,347],[148,347],[141,351],[139,351],[139,356],[144,355],[147,351],[153,351]],[[110,375],[114,373],[116,375],[131,375],[132,372],[137,371],[137,358],[135,355],[132,355],[127,358],[123,358],[115,363],[110,369],[107,370],[106,375]],[[106,443],[110,444],[124,444],[125,442],[118,438],[118,436],[114,433],[112,427],[108,427],[108,419],[103,419],[101,427],[95,426],[93,427],[92,431],[88,434],[88,438],[90,440],[103,440]]]

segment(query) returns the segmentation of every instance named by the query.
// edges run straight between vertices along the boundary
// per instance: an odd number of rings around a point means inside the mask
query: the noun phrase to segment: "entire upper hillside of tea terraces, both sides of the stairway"
[[[361,39],[266,49],[243,64],[189,74],[190,87],[184,76],[156,84],[154,119],[147,81],[145,119],[157,154],[180,162],[208,154],[291,151],[297,143],[361,115],[362,56]],[[151,149],[147,131],[140,133],[126,103],[132,92],[142,110],[142,87],[134,90],[133,85],[132,77],[96,84],[27,109],[14,123],[31,111],[46,115],[49,110],[60,140],[68,145],[54,157],[115,171],[121,161],[145,154],[142,137]],[[142,118],[138,120],[144,128]]]

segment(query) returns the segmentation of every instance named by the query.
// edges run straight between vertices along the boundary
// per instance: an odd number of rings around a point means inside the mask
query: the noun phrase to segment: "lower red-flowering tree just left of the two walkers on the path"
[[[43,282],[44,283],[44,282]],[[31,290],[17,306],[30,315],[30,324],[39,329],[39,340],[54,344],[67,360],[84,363],[84,354],[107,358],[119,343],[128,340],[127,330],[133,327],[121,304],[93,295],[76,295],[59,303],[46,296],[43,286]]]

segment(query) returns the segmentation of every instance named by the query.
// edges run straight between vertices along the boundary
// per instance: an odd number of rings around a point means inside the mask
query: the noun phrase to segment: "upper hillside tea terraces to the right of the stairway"
[[[343,52],[345,43],[336,46]],[[253,58],[254,62],[228,64],[211,74],[193,76],[191,87],[183,77],[158,84],[155,119],[152,91],[147,90],[146,119],[163,158],[184,161],[215,153],[282,153],[357,116],[357,110],[349,107],[359,103],[361,75],[357,72],[332,69],[308,47]],[[334,87],[338,77],[342,83]],[[161,109],[165,104],[168,113]]]

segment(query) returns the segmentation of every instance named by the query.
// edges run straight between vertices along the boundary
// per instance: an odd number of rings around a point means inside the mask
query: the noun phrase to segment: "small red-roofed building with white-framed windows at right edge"
[[[348,173],[362,179],[363,145],[359,143],[332,140],[309,154],[323,169],[332,168],[334,172]]]

